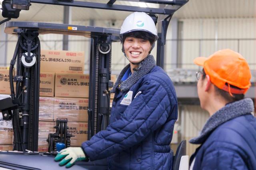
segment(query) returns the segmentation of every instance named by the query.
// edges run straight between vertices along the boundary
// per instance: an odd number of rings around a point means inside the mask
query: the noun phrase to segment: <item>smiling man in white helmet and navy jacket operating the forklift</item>
[[[178,106],[172,81],[150,55],[157,39],[155,23],[146,13],[134,12],[124,20],[120,40],[130,63],[111,91],[110,124],[81,148],[62,150],[55,158],[64,158],[60,165],[108,157],[111,170],[171,169]]]

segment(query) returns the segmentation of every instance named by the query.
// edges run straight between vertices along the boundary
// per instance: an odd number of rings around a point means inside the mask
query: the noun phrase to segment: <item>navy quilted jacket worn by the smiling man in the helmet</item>
[[[111,170],[170,170],[170,142],[178,117],[176,92],[149,55],[126,81],[114,88],[110,124],[82,144],[90,160],[108,157]]]

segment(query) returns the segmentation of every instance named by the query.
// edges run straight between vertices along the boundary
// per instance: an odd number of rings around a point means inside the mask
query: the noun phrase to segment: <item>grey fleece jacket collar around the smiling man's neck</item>
[[[126,91],[132,87],[141,77],[148,74],[154,67],[156,66],[156,61],[153,55],[148,55],[146,59],[141,63],[140,69],[138,71],[134,71],[134,73],[128,77],[125,81],[121,82],[121,79],[126,72],[127,69],[130,69],[130,64],[126,65],[124,69],[119,74],[116,83],[114,84],[113,89],[110,93],[116,93],[116,88],[119,87],[121,91]]]

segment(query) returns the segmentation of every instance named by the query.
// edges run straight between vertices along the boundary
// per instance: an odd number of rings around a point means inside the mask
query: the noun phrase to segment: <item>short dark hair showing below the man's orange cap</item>
[[[204,69],[202,70],[202,79],[205,79],[206,77],[206,73],[204,71]],[[228,83],[226,83],[226,85],[228,85]],[[234,88],[234,89],[240,89],[236,86],[230,85],[230,87]],[[244,99],[244,94],[234,94],[232,93],[232,96],[230,96],[230,94],[227,91],[224,91],[222,89],[219,89],[218,87],[216,87],[216,85],[214,85],[215,90],[217,91],[217,93],[219,93],[219,95],[221,95],[224,99],[226,99],[228,102],[233,102],[233,101],[239,101]]]

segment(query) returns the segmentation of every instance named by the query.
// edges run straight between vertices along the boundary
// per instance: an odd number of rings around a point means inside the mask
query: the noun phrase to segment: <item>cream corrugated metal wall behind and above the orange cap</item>
[[[196,69],[195,65],[190,65],[195,57],[209,56],[214,51],[230,48],[241,53],[250,63],[251,69],[256,69],[256,41],[248,40],[256,38],[255,18],[180,21],[183,22],[182,38],[185,39],[182,42],[182,68]]]

